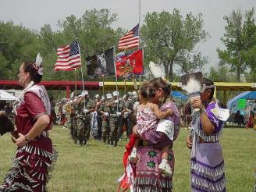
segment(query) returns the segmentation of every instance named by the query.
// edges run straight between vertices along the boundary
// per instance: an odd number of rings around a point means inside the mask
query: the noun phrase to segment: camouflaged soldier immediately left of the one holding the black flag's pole
[[[103,142],[105,143],[106,140],[108,140],[108,144],[110,144],[109,140],[109,107],[107,107],[107,102],[112,99],[111,94],[107,94],[107,99],[105,100],[105,97],[102,96],[101,98],[101,106],[99,108],[99,112],[101,113],[102,117],[102,139]]]

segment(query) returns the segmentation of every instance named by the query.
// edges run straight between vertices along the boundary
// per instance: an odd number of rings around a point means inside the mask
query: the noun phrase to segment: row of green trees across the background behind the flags
[[[244,14],[233,10],[226,20],[221,41],[226,48],[217,48],[218,68],[210,68],[205,76],[215,81],[240,82],[241,74],[248,82],[256,81],[256,23],[254,8]],[[112,24],[118,20],[110,9],[91,9],[77,18],[74,15],[59,20],[59,29],[53,31],[45,24],[40,31],[31,30],[12,21],[0,21],[0,79],[16,80],[20,63],[33,61],[40,52],[44,57],[43,80],[74,80],[73,72],[54,71],[56,50],[74,40],[80,42],[82,63],[87,56],[118,44],[128,30]],[[135,26],[136,23],[134,23]],[[169,80],[180,80],[180,73],[204,69],[208,58],[195,50],[196,45],[207,41],[210,34],[204,30],[201,13],[182,16],[179,9],[172,12],[148,12],[140,30],[141,47],[144,48],[144,68],[150,61],[163,65]],[[173,66],[180,71],[174,73]],[[86,65],[83,66],[84,68]],[[84,70],[85,71],[85,70]],[[77,72],[76,72],[77,73]],[[235,76],[235,77],[234,77]],[[80,75],[77,75],[80,80]],[[87,80],[87,77],[86,77]]]

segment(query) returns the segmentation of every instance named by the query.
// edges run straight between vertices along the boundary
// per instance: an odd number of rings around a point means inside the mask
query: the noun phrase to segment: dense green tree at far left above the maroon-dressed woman
[[[20,63],[35,60],[41,41],[33,30],[0,21],[1,79],[15,80]]]

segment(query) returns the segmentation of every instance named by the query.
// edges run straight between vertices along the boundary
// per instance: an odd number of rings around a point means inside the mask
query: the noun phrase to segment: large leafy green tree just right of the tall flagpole
[[[190,12],[183,18],[179,9],[172,13],[148,12],[141,27],[145,62],[163,64],[170,80],[174,65],[180,66],[182,73],[201,69],[207,59],[194,48],[208,37],[203,26],[201,14],[194,16]]]

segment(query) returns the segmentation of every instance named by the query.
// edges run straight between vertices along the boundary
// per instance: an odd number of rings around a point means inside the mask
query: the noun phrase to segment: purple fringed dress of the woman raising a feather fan
[[[206,107],[208,118],[215,126],[206,135],[201,126],[200,114],[194,116],[191,126],[193,146],[190,158],[190,182],[192,191],[226,191],[224,159],[219,137],[224,123],[214,114],[215,102]],[[200,140],[204,140],[203,143]]]

